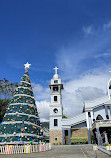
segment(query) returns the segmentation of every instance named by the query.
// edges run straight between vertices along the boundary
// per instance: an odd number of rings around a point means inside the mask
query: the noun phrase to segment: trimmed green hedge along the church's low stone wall
[[[71,137],[71,144],[87,144],[87,137]]]

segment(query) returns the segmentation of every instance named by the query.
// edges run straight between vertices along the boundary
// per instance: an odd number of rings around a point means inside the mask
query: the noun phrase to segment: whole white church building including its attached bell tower
[[[107,95],[96,100],[85,101],[83,113],[72,118],[63,118],[62,90],[64,86],[57,73],[49,85],[51,91],[50,142],[51,144],[71,144],[71,137],[87,137],[91,144],[93,135],[95,143],[111,143],[111,79],[107,85]]]

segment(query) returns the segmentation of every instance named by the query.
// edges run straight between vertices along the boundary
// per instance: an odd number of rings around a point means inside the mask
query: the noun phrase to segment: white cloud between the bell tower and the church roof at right
[[[102,97],[107,93],[107,74],[87,74],[79,79],[64,83],[63,107],[68,117],[80,114],[83,102]]]

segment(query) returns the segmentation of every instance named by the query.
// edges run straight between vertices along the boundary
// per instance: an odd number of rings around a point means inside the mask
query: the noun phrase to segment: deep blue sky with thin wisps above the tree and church
[[[1,78],[20,82],[28,61],[31,81],[42,101],[47,101],[43,96],[47,96],[54,66],[59,66],[66,87],[91,75],[99,76],[100,83],[105,75],[106,85],[111,69],[110,6],[110,0],[0,1]]]

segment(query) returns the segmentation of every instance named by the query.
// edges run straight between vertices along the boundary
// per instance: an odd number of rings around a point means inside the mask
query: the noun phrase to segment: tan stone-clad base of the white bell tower
[[[49,135],[51,144],[63,144],[62,130],[50,130]]]

